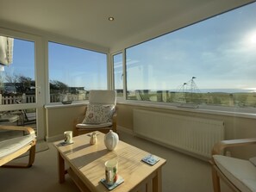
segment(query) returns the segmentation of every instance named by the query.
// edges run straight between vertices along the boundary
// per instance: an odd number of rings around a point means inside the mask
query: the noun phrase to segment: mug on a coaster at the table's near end
[[[113,185],[117,181],[117,159],[111,159],[105,162],[105,183],[108,185]]]

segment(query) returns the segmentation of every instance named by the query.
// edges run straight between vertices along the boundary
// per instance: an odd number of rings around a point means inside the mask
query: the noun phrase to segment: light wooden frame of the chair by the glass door
[[[17,131],[23,131],[29,134],[34,133],[34,129],[31,127],[16,127],[16,126],[0,126],[0,130],[17,130]],[[23,146],[21,149],[17,150],[16,152],[13,152],[3,158],[0,158],[0,166],[1,167],[11,167],[11,168],[28,168],[31,167],[32,164],[34,164],[34,157],[35,157],[35,144],[36,139],[32,140],[28,145]],[[16,163],[16,164],[9,164],[10,161],[12,161],[15,158],[18,158],[25,152],[29,151],[28,156],[28,163]]]

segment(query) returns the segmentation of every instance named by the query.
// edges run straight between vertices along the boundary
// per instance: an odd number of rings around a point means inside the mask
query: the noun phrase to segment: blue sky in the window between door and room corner
[[[107,89],[107,55],[49,43],[49,77],[85,90]]]

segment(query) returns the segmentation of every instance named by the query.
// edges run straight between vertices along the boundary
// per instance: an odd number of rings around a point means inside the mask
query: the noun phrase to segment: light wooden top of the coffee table
[[[124,183],[111,191],[129,191],[165,164],[164,158],[149,165],[141,161],[149,154],[135,146],[119,141],[114,151],[107,150],[104,145],[104,133],[97,132],[97,144],[90,145],[90,134],[73,138],[73,144],[62,146],[63,140],[54,142],[60,155],[72,170],[93,191],[109,191],[100,182],[105,177],[104,163],[112,158],[118,159],[118,174]],[[122,186],[122,187],[121,187]]]

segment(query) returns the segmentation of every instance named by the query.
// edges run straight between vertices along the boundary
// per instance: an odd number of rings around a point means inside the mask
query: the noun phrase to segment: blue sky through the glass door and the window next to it
[[[49,42],[49,79],[86,90],[107,89],[107,55]],[[9,76],[34,80],[34,42],[14,40],[13,63],[4,67]],[[5,81],[6,82],[6,81]]]

